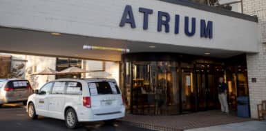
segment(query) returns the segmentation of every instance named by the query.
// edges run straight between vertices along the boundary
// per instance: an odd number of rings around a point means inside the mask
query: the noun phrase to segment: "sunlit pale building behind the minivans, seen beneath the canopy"
[[[120,81],[119,63],[114,61],[95,61],[63,57],[44,57],[27,54],[3,54],[0,57],[1,79],[28,79],[33,89],[39,89],[47,81],[60,78],[113,78]],[[82,68],[88,72],[82,74],[37,75],[46,68],[61,71],[70,67]]]

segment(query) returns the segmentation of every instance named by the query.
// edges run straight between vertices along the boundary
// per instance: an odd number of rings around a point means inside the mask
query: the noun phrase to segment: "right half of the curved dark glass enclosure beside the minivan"
[[[178,64],[156,62],[155,114],[179,114]]]

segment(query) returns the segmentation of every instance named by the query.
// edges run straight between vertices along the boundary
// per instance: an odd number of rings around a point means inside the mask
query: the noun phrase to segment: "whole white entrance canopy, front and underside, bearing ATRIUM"
[[[14,0],[0,9],[1,52],[106,61],[122,52],[82,47],[220,58],[258,52],[256,17],[186,1]]]

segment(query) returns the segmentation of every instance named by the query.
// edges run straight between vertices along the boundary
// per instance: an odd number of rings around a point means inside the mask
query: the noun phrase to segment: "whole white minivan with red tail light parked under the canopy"
[[[79,122],[110,123],[125,116],[125,107],[115,79],[57,79],[28,98],[27,112],[31,119],[52,117],[76,128]]]

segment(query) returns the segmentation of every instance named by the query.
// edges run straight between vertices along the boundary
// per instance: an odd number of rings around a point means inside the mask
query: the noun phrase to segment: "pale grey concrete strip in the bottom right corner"
[[[207,128],[196,128],[185,131],[265,131],[266,121],[247,121],[242,123],[230,123],[216,125]]]

